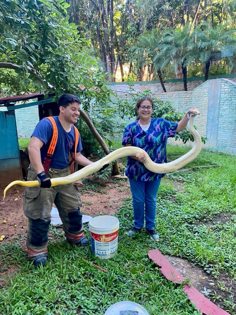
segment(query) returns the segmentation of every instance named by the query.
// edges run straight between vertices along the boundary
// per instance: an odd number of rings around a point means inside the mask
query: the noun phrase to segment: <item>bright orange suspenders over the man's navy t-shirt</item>
[[[45,160],[44,160],[44,164],[43,164],[43,168],[44,168],[44,172],[45,174],[48,174],[48,170],[49,170],[49,167],[50,167],[50,163],[51,163],[51,160],[52,160],[52,157],[53,157],[53,153],[54,153],[54,150],[55,150],[55,147],[56,147],[56,144],[57,144],[57,138],[58,138],[58,130],[57,130],[57,125],[55,123],[55,120],[53,117],[46,117],[47,119],[50,120],[50,122],[52,123],[52,126],[53,126],[53,136],[52,136],[52,140],[50,142],[50,145],[48,147],[48,152],[46,154],[46,157],[45,157]],[[77,146],[78,146],[78,142],[79,142],[79,131],[78,129],[72,125],[74,127],[74,131],[75,131],[75,157],[76,157],[76,149],[77,149]],[[75,162],[75,157],[70,161],[69,163],[69,166]],[[71,173],[74,172],[74,164],[73,164],[73,167],[71,169]]]

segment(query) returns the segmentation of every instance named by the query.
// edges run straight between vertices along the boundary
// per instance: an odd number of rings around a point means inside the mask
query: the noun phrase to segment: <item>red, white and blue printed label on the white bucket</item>
[[[102,259],[108,259],[115,255],[118,247],[118,231],[111,234],[91,233],[92,253]]]

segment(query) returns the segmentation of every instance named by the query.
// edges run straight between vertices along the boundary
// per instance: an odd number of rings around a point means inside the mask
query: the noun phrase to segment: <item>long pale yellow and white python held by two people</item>
[[[135,156],[139,155],[141,156],[143,153],[146,154],[147,160],[144,163],[145,167],[154,173],[158,174],[163,174],[163,173],[169,173],[169,172],[174,172],[177,169],[182,168],[184,165],[188,164],[189,162],[193,161],[200,153],[201,147],[202,147],[202,141],[199,133],[197,132],[196,129],[194,129],[193,126],[193,121],[194,117],[196,115],[199,115],[199,110],[194,109],[193,113],[190,114],[190,119],[188,121],[187,128],[189,132],[193,135],[194,137],[194,145],[192,149],[184,154],[182,157],[177,158],[176,160],[169,162],[169,163],[162,163],[162,164],[157,164],[154,163],[147,152],[145,152],[143,149],[138,148],[136,146],[126,146],[120,149],[117,149],[110,154],[106,155],[105,157],[101,158],[97,162],[94,162],[93,164],[85,166],[83,169],[80,169],[79,171],[70,174],[65,177],[57,177],[57,178],[52,178],[51,183],[52,187],[57,186],[57,185],[65,185],[65,184],[70,184],[73,183],[76,180],[79,180],[85,176],[88,176],[94,172],[99,171],[105,164],[109,164],[121,157],[126,157],[126,156]],[[6,195],[7,190],[14,186],[14,185],[21,185],[21,186],[26,186],[26,187],[32,187],[32,186],[39,186],[39,182],[37,180],[32,180],[32,181],[23,181],[23,180],[15,180],[11,182],[5,189],[4,189],[4,197]]]

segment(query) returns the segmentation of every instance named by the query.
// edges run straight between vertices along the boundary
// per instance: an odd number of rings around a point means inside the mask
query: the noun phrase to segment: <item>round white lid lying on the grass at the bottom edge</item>
[[[104,315],[149,315],[138,303],[131,301],[117,302],[111,305]]]

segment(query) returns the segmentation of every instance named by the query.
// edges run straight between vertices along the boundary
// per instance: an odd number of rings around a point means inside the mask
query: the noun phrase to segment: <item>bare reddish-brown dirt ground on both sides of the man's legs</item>
[[[128,181],[89,179],[89,185],[84,185],[87,189],[81,190],[83,202],[81,211],[85,215],[96,216],[100,212],[112,215],[122,205],[124,198],[131,194]],[[3,190],[1,190],[0,235],[9,235],[9,238],[3,242],[12,242],[20,233],[25,238],[28,223],[23,212],[23,196],[24,187],[22,186],[11,188],[5,200],[3,200]],[[3,220],[6,220],[5,224],[2,223]]]

